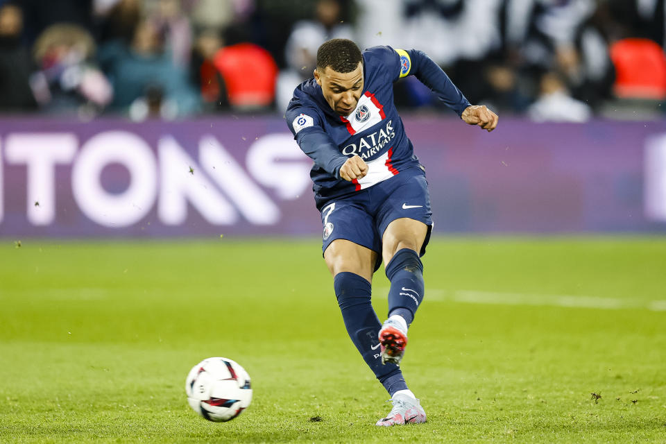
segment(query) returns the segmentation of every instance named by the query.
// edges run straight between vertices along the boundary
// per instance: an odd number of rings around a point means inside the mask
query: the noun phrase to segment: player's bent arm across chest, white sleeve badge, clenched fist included
[[[313,108],[289,104],[285,113],[287,126],[293,133],[301,151],[334,178],[351,182],[368,173],[368,165],[361,157],[343,155],[321,126],[318,112]]]

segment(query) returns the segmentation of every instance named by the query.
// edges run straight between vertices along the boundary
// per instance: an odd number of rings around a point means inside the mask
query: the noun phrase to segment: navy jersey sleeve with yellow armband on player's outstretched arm
[[[373,55],[382,60],[391,81],[395,82],[411,75],[416,76],[459,116],[470,105],[449,76],[423,51],[393,49],[391,46],[375,46],[368,51],[373,51]]]

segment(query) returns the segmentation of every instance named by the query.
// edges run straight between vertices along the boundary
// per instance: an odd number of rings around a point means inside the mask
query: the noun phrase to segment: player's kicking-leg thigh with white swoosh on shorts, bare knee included
[[[405,171],[404,176],[386,191],[387,197],[377,212],[384,264],[402,248],[424,255],[432,231],[430,194],[425,175],[420,171]]]

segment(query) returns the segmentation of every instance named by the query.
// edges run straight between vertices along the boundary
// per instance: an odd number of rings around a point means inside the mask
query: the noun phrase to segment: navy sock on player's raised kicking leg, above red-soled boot
[[[391,281],[388,291],[388,316],[399,314],[407,321],[414,320],[416,309],[423,300],[423,264],[416,251],[409,248],[395,253],[386,264],[386,277]]]

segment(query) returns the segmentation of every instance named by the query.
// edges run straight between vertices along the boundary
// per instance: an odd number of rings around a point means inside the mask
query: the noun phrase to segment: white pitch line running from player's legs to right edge
[[[388,293],[378,288],[378,293]],[[627,300],[599,296],[573,296],[563,294],[501,293],[497,291],[425,289],[427,301],[452,301],[467,304],[532,305],[540,307],[573,307],[592,309],[648,309],[666,311],[666,300]]]

